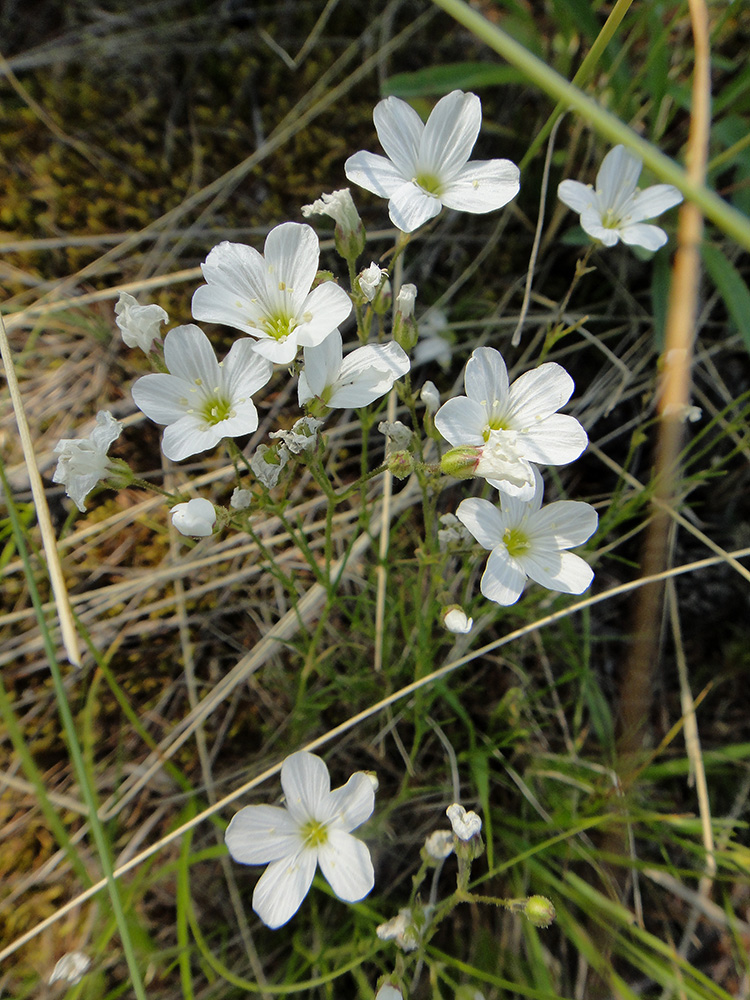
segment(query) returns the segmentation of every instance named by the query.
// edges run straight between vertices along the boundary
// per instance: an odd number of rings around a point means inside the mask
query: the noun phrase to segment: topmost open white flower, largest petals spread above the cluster
[[[373,113],[387,154],[359,152],[344,171],[350,181],[388,198],[391,221],[411,233],[442,209],[482,214],[502,208],[518,193],[518,167],[510,160],[468,162],[482,125],[482,103],[461,90],[441,98],[427,124],[397,97]]]

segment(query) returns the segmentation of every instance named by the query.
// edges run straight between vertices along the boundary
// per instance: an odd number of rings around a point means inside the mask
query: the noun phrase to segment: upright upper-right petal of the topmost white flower
[[[443,182],[453,180],[469,159],[481,127],[482,102],[476,94],[462,90],[446,94],[424,126],[417,159],[419,171],[434,174]]]

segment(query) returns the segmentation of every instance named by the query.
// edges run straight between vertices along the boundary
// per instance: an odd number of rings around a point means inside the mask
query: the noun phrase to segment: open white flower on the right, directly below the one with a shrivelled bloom
[[[587,503],[558,500],[542,507],[544,488],[536,473],[536,492],[528,503],[501,494],[500,507],[489,500],[462,500],[459,520],[490,549],[480,589],[497,604],[514,604],[526,578],[549,590],[582,594],[594,578],[588,563],[567,552],[596,531],[598,516]]]

